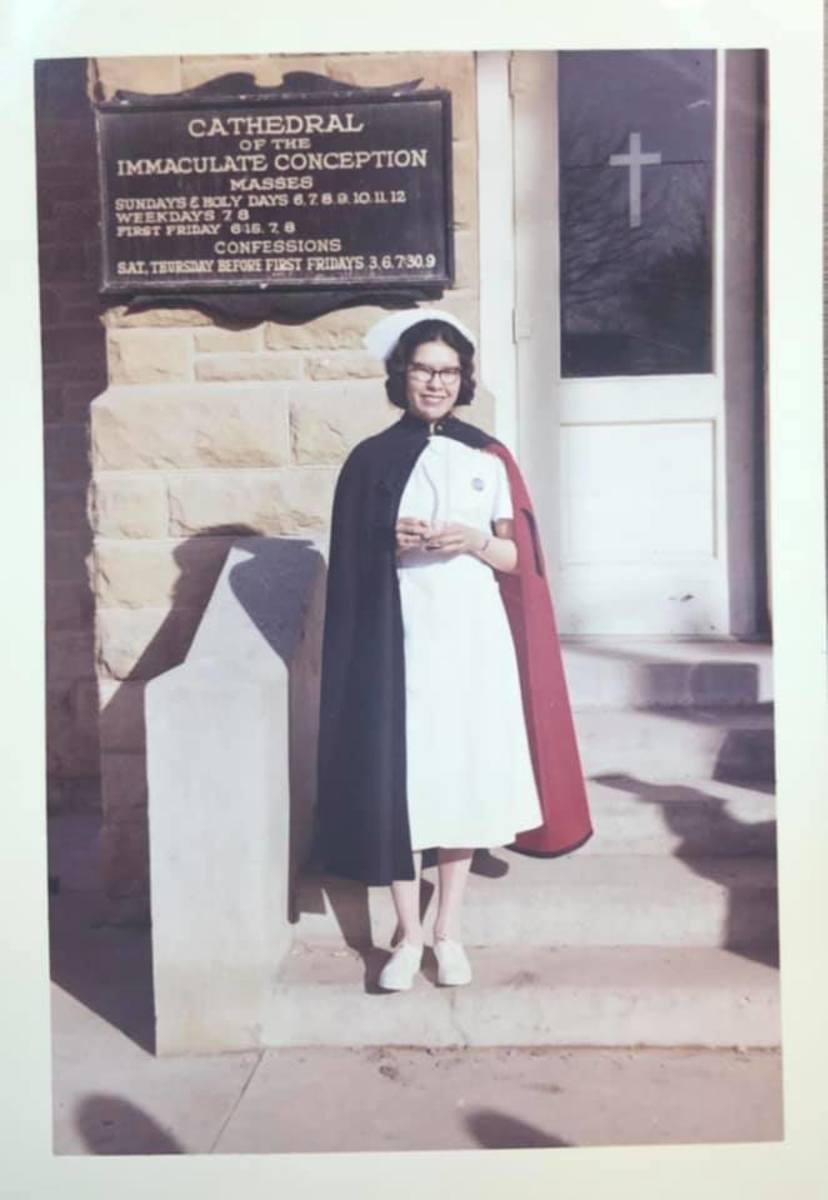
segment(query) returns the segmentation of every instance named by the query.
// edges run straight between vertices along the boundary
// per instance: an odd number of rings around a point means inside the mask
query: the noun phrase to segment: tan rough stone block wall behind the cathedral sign
[[[96,95],[176,91],[232,71],[278,84],[450,89],[457,286],[438,301],[479,329],[473,54],[98,59]],[[102,311],[108,386],[92,404],[89,515],[101,721],[102,846],[113,919],[146,916],[146,680],[180,662],[234,538],[324,535],[338,468],[396,420],[353,307],[304,325],[220,328],[194,310]],[[473,419],[491,428],[491,400]]]

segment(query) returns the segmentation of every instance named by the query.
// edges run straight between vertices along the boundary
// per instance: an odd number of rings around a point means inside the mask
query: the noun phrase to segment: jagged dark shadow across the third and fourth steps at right
[[[744,850],[761,848],[766,857],[773,858],[775,863],[775,821],[746,822],[732,817],[726,810],[726,802],[718,796],[710,796],[696,787],[682,787],[679,799],[676,799],[676,785],[652,784],[635,779],[632,775],[605,774],[593,776],[595,782],[607,787],[618,788],[625,792],[641,804],[653,804],[661,809],[661,817],[665,826],[679,838],[679,845],[673,851],[673,857],[682,859],[688,868],[701,878],[710,880],[727,889],[728,905],[727,918],[721,946],[724,949],[754,962],[762,962],[767,966],[779,965],[779,940],[778,940],[778,900],[776,887],[758,889],[758,900],[772,908],[770,924],[774,930],[772,943],[754,943],[750,940],[750,929],[754,919],[757,894],[745,898],[732,880],[732,858],[716,857],[700,852],[696,814],[692,805],[704,804],[708,811],[713,811],[716,834],[725,846],[742,846]],[[751,785],[752,786],[752,785]],[[744,857],[749,854],[733,854]]]

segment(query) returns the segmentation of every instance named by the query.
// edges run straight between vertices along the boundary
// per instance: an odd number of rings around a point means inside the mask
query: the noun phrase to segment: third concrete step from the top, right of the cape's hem
[[[764,787],[604,775],[588,780],[587,791],[595,833],[580,854],[775,853],[775,797]]]

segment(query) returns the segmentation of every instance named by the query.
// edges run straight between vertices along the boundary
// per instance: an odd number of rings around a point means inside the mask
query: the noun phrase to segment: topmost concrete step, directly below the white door
[[[773,701],[773,647],[730,638],[562,641],[576,708],[750,707]]]

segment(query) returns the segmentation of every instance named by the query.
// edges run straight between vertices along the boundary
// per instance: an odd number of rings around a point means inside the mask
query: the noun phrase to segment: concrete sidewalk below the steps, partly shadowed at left
[[[60,875],[50,900],[55,1153],[479,1150],[782,1135],[776,1051],[300,1048],[156,1058],[150,936],[100,923],[86,858],[92,823],[84,820],[65,824],[60,854],[53,853]]]

